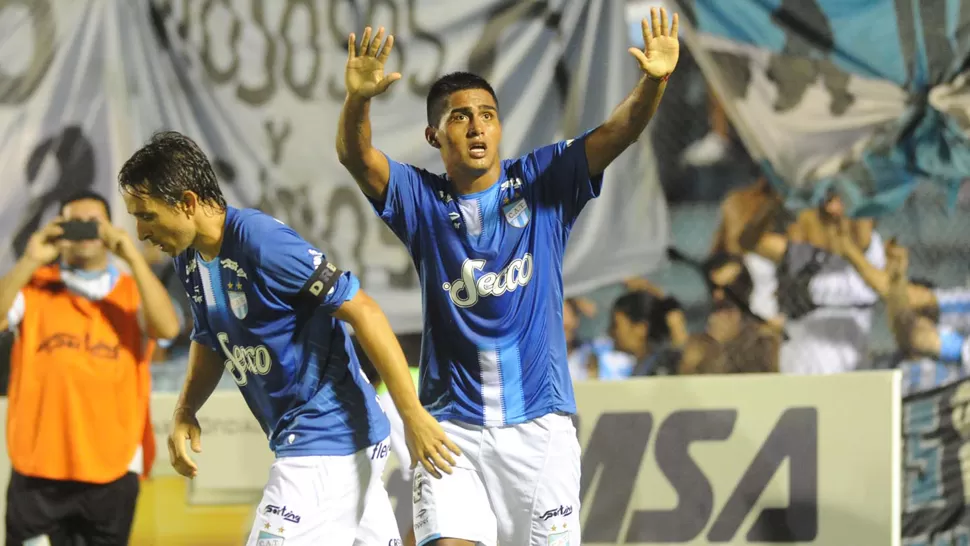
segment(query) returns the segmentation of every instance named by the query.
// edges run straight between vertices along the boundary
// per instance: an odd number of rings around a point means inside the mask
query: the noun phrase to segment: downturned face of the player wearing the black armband
[[[192,246],[196,228],[192,215],[153,197],[125,193],[128,214],[135,217],[138,238],[177,256]]]

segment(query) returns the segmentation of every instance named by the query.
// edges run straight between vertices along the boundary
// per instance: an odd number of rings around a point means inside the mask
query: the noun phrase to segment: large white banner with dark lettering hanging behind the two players
[[[336,157],[346,39],[367,24],[394,32],[389,65],[404,75],[375,101],[375,145],[433,171],[443,167],[424,141],[425,96],[447,72],[492,82],[508,156],[594,128],[639,74],[623,5],[610,0],[0,2],[0,270],[58,199],[116,196],[130,153],[175,129],[213,159],[230,203],[289,224],[354,271],[399,333],[420,331],[411,259]],[[648,140],[608,170],[572,230],[567,293],[663,259],[666,204]]]

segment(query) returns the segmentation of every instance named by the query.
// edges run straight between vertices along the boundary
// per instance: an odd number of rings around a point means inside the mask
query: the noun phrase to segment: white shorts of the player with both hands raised
[[[508,427],[446,421],[462,450],[452,474],[414,472],[419,545],[440,538],[485,546],[578,546],[579,441],[572,419],[550,414]]]

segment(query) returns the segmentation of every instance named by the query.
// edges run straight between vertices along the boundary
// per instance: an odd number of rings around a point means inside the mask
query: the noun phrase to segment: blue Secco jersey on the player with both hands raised
[[[388,158],[387,197],[374,206],[417,267],[421,401],[437,419],[492,426],[575,413],[562,260],[602,186],[583,138],[503,161],[498,181],[471,195]]]

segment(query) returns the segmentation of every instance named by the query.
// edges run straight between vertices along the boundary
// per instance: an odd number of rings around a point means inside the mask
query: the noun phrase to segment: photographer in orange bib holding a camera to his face
[[[179,333],[168,293],[104,197],[82,193],[0,279],[0,309],[16,334],[5,543],[127,544],[154,458],[151,353]]]

